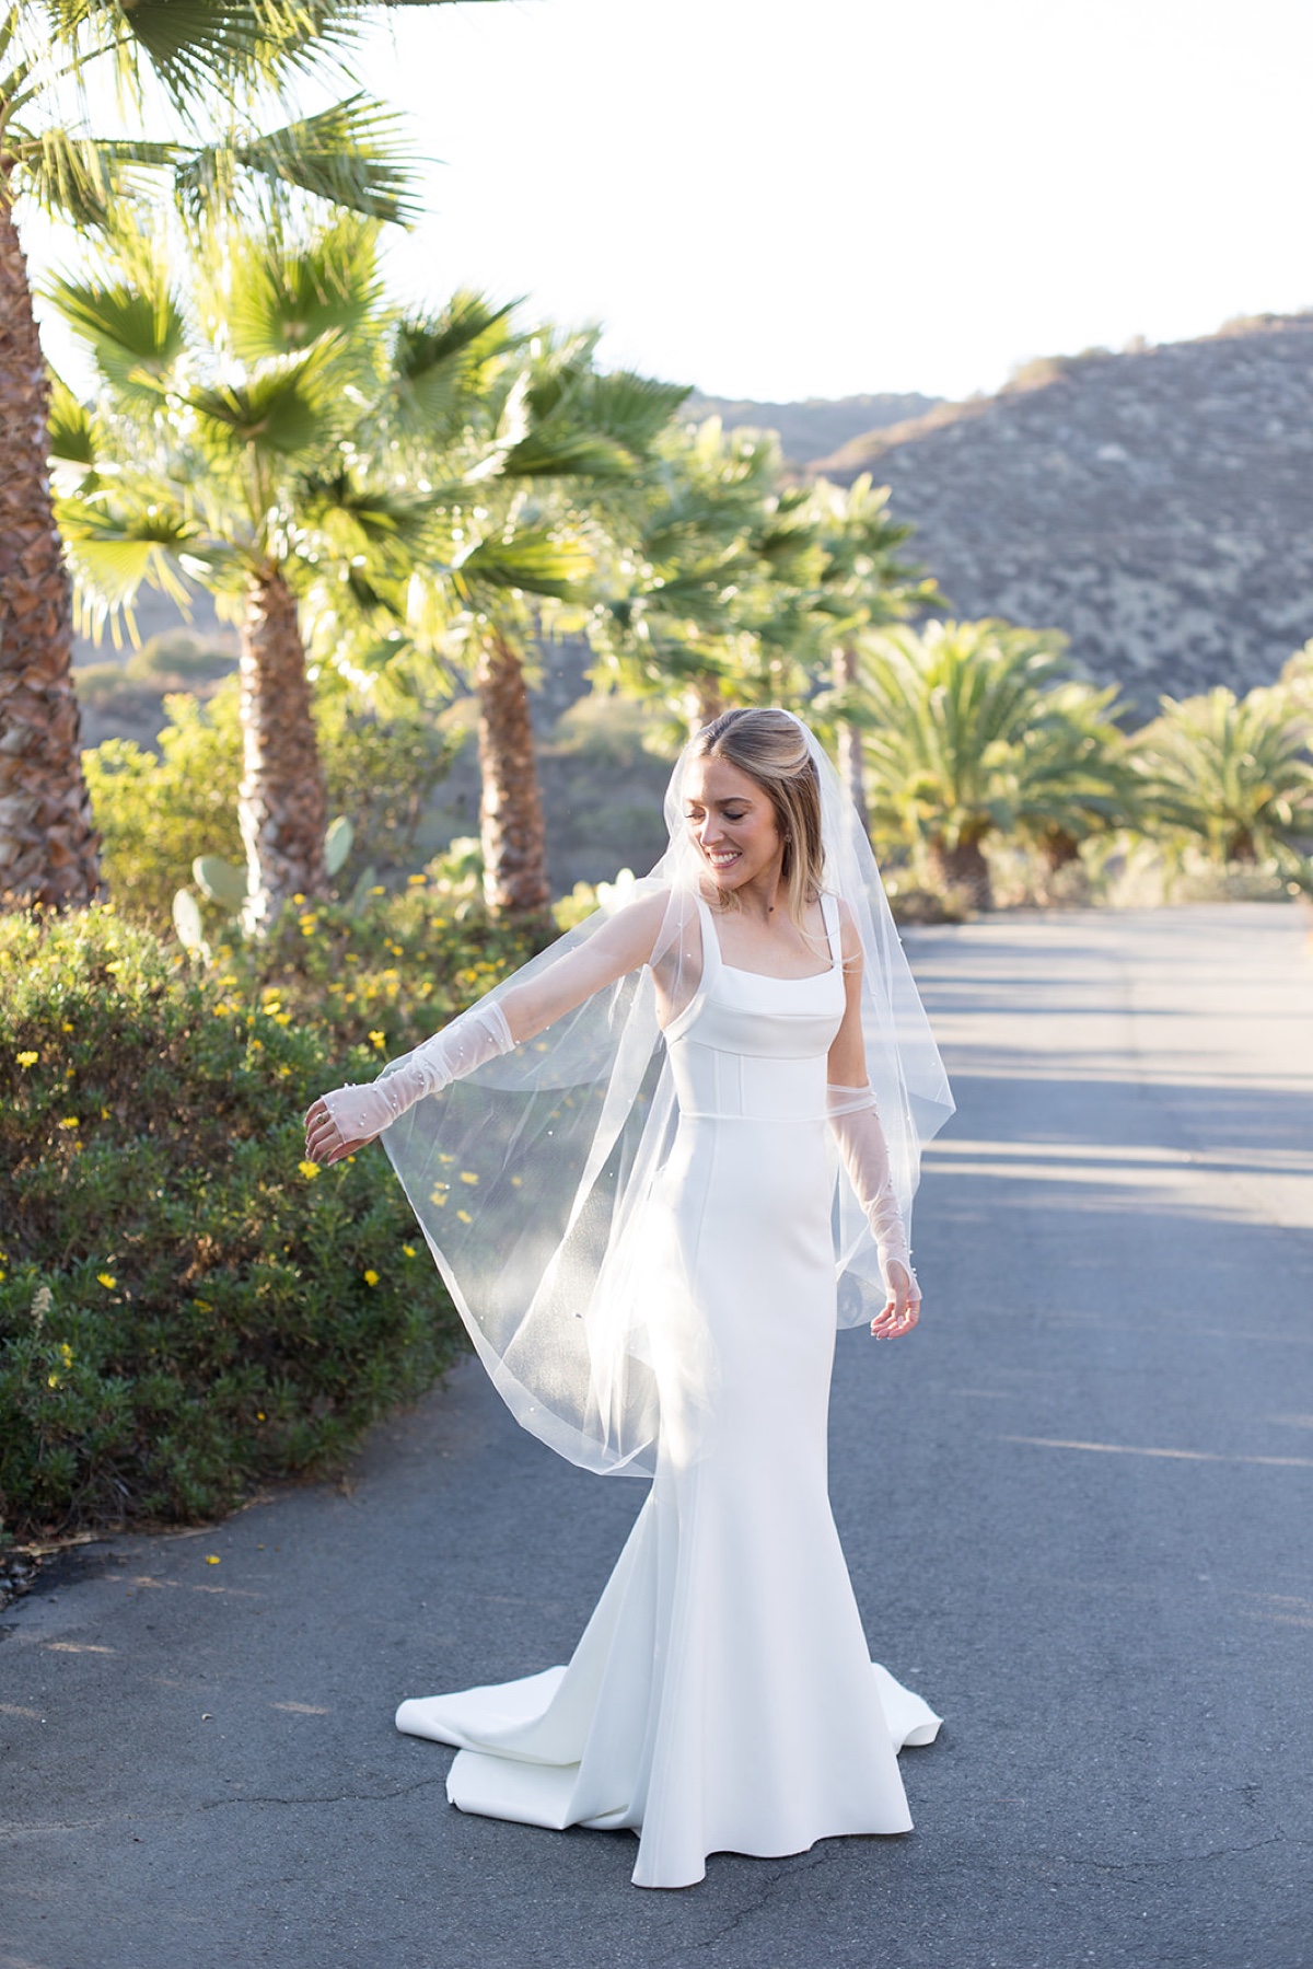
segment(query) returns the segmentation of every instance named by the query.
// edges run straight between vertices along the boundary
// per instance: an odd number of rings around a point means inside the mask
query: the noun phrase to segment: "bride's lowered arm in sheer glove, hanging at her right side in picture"
[[[911,1331],[921,1309],[921,1288],[911,1270],[907,1229],[892,1183],[890,1152],[876,1097],[866,1077],[862,945],[846,918],[843,921],[843,957],[846,1004],[827,1063],[829,1122],[880,1252],[880,1274],[890,1300],[884,1311],[872,1319],[870,1331],[884,1337]]]

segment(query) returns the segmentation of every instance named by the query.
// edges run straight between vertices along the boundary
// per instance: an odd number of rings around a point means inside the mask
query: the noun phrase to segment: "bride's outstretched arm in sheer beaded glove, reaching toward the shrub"
[[[335,1087],[305,1116],[305,1154],[329,1164],[372,1142],[398,1114],[451,1081],[474,1073],[522,1040],[533,1040],[652,957],[665,916],[663,890],[618,910],[585,943],[535,977],[480,998],[366,1087]]]

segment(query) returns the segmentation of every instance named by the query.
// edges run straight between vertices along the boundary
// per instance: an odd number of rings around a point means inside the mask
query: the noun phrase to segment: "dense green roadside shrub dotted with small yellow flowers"
[[[112,908],[0,920],[10,1534],[211,1516],[431,1384],[461,1329],[400,1185],[301,1162],[301,1114],[510,955],[427,884],[209,977]]]

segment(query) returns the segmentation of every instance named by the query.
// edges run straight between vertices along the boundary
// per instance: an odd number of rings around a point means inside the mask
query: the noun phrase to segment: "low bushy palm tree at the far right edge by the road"
[[[1130,754],[1150,819],[1215,862],[1274,860],[1309,888],[1297,843],[1313,835],[1313,756],[1297,695],[1276,687],[1238,699],[1219,685],[1159,703]]]

